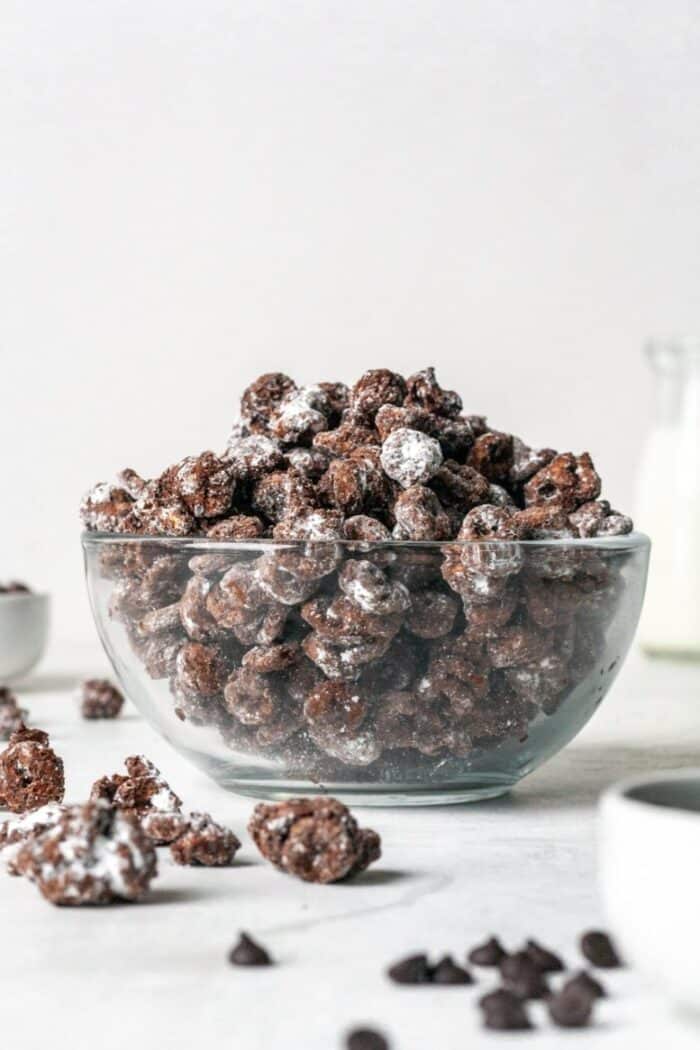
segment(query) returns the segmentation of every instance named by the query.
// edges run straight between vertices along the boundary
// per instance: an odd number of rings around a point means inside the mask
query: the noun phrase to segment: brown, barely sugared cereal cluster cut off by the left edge
[[[0,807],[28,813],[61,802],[64,790],[63,761],[48,734],[20,723],[0,754]]]

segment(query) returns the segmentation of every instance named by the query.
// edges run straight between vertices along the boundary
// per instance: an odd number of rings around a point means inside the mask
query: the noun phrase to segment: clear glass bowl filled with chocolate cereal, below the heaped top
[[[360,804],[507,792],[610,689],[639,533],[528,542],[228,542],[87,532],[107,654],[224,788]]]

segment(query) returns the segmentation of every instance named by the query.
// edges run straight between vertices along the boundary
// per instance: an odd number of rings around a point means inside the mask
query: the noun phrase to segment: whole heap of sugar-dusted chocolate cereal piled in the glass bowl
[[[629,532],[599,496],[588,453],[490,427],[432,369],[377,369],[261,376],[220,456],[124,470],[82,516],[114,533],[110,614],[178,718],[302,777],[390,780],[523,743],[593,673],[619,572],[524,541]]]

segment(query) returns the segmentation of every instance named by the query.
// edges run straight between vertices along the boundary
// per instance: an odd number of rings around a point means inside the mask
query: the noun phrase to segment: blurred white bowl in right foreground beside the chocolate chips
[[[602,798],[600,878],[627,961],[700,1008],[700,769],[627,780]]]

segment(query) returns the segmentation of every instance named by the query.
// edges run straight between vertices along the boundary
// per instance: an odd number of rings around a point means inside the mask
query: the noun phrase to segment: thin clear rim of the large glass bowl
[[[173,551],[258,551],[269,550],[303,550],[313,547],[327,547],[333,544],[348,551],[366,552],[370,550],[400,548],[402,550],[449,550],[454,547],[503,547],[517,545],[527,549],[564,550],[573,547],[577,550],[610,550],[632,551],[643,550],[651,546],[651,540],[643,532],[628,532],[625,536],[601,536],[586,539],[568,537],[563,540],[274,540],[260,538],[257,540],[218,540],[214,537],[196,536],[145,536],[121,532],[84,531],[82,543],[85,548],[106,547],[110,544],[143,544],[152,543],[168,547]]]

